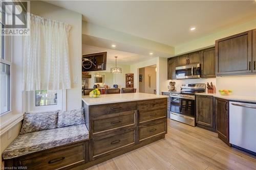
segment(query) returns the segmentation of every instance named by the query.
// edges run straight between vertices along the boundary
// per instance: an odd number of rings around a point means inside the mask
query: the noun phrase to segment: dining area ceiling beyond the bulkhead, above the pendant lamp
[[[115,56],[117,56],[118,57],[117,65],[118,64],[132,65],[141,61],[154,58],[153,56],[152,57],[142,56],[142,55],[127,53],[127,52],[118,51],[110,48],[103,48],[98,46],[82,44],[82,55],[100,53],[100,52],[107,52],[106,62],[108,63],[115,63]]]

